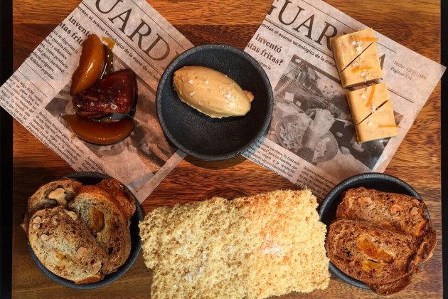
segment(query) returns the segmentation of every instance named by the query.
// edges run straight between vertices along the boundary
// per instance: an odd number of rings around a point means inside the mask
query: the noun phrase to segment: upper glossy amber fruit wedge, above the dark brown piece
[[[82,43],[80,63],[72,76],[70,94],[76,95],[95,85],[103,73],[105,63],[105,47],[100,38],[92,34]]]

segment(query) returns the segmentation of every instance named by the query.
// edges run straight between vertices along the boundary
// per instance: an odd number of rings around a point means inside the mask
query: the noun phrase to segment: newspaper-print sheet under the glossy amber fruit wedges
[[[83,142],[62,118],[74,113],[71,75],[92,33],[114,42],[114,70],[137,74],[134,130],[109,146]],[[164,68],[192,46],[144,0],[85,0],[1,86],[0,104],[73,169],[110,174],[142,202],[184,157],[164,137],[155,93]]]

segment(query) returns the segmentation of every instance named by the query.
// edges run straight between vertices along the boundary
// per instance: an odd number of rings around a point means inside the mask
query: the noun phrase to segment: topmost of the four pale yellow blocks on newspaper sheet
[[[333,38],[331,41],[334,60],[339,72],[346,68],[356,57],[363,53],[371,43],[377,40],[372,28]]]

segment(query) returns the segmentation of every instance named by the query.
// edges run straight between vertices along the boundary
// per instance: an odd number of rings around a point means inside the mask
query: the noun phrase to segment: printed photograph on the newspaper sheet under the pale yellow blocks
[[[395,113],[398,124],[401,118]],[[389,141],[358,143],[338,78],[297,55],[292,56],[274,87],[268,138],[324,170],[340,164],[341,159],[373,169]]]

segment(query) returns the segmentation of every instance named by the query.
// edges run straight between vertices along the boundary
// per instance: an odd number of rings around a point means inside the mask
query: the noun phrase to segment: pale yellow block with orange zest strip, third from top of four
[[[374,84],[366,88],[347,92],[348,106],[355,125],[375,112],[385,101],[390,100],[388,86],[385,83]]]

